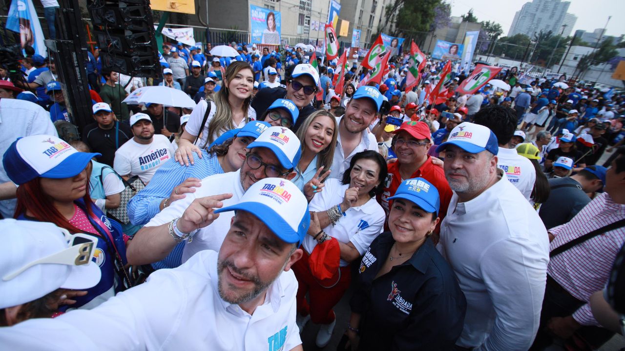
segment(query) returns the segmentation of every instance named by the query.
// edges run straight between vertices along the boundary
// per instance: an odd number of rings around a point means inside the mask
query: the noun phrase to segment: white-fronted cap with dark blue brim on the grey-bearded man
[[[449,139],[436,148],[436,152],[444,151],[448,145],[455,145],[466,152],[477,154],[484,150],[496,155],[499,152],[497,137],[488,127],[479,124],[462,122],[449,133]]]

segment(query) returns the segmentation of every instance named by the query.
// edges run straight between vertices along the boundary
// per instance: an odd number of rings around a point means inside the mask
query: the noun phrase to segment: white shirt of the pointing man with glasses
[[[156,227],[161,224],[171,222],[173,219],[181,217],[184,210],[189,207],[193,200],[200,197],[218,195],[218,194],[232,194],[230,199],[222,200],[223,207],[234,205],[239,202],[241,196],[244,193],[241,186],[241,171],[228,172],[222,174],[211,175],[202,179],[202,186],[197,187],[195,192],[189,192],[185,194],[184,199],[174,201],[163,209],[159,214],[154,216],[146,227]],[[184,245],[183,251],[183,263],[186,262],[192,255],[202,250],[215,250],[219,251],[222,242],[228,230],[230,229],[230,219],[234,216],[234,211],[223,212],[219,214],[214,222],[207,227],[199,229],[196,234],[193,235],[193,240],[190,243]]]

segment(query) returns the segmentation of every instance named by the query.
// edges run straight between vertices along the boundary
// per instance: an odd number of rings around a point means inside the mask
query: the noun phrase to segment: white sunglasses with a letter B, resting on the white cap
[[[67,249],[59,251],[56,254],[51,254],[47,257],[42,257],[41,259],[34,260],[14,272],[4,275],[2,280],[6,282],[7,280],[14,279],[17,275],[22,274],[22,272],[37,264],[89,264],[89,262],[91,262],[91,257],[93,257],[96,250],[96,246],[98,246],[98,238],[82,233],[69,234],[68,230],[62,228],[61,230],[65,234],[66,239],[69,238],[69,247]]]

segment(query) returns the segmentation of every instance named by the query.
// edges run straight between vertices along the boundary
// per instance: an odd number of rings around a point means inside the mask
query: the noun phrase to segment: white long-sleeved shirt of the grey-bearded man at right
[[[536,210],[502,174],[467,202],[451,197],[437,249],[467,300],[456,345],[527,350],[539,325],[549,237]]]

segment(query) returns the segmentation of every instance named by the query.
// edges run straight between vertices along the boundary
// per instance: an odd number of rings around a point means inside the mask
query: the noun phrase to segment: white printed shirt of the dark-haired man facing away
[[[499,147],[497,167],[506,172],[507,180],[529,200],[534,189],[534,182],[536,182],[536,169],[532,162],[517,154],[516,149]]]

